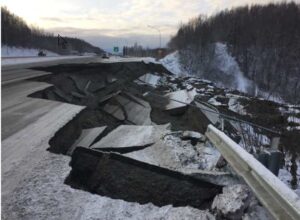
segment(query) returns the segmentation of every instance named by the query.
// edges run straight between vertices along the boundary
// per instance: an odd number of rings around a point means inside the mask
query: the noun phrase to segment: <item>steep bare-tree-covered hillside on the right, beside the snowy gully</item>
[[[252,5],[199,16],[181,25],[169,42],[188,72],[215,80],[212,57],[226,45],[243,75],[269,93],[300,103],[300,5]],[[220,71],[220,70],[219,70]]]

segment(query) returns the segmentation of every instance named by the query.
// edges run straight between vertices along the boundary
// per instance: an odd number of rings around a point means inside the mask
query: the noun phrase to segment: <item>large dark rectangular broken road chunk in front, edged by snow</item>
[[[66,184],[112,199],[206,209],[222,187],[120,154],[78,147]]]

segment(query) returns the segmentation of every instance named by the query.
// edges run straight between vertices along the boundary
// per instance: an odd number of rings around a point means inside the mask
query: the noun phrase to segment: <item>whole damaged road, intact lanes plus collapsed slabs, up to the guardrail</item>
[[[4,219],[272,219],[204,135],[224,90],[151,62],[26,71],[2,85]]]

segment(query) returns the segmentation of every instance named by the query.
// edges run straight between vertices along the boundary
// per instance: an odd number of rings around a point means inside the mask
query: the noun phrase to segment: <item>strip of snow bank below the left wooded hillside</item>
[[[9,47],[3,45],[1,47],[1,57],[36,57],[41,49],[23,48],[23,47]],[[49,50],[42,50],[46,56],[59,56]]]

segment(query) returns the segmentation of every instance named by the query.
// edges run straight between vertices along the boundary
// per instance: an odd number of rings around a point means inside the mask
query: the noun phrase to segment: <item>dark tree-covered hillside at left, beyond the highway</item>
[[[43,29],[31,27],[26,22],[11,13],[7,8],[1,7],[1,37],[2,45],[39,48],[49,50],[58,54],[64,53],[61,45],[58,45],[57,36],[47,33]],[[102,53],[98,47],[92,46],[84,40],[78,38],[64,37],[69,51],[78,53]]]

